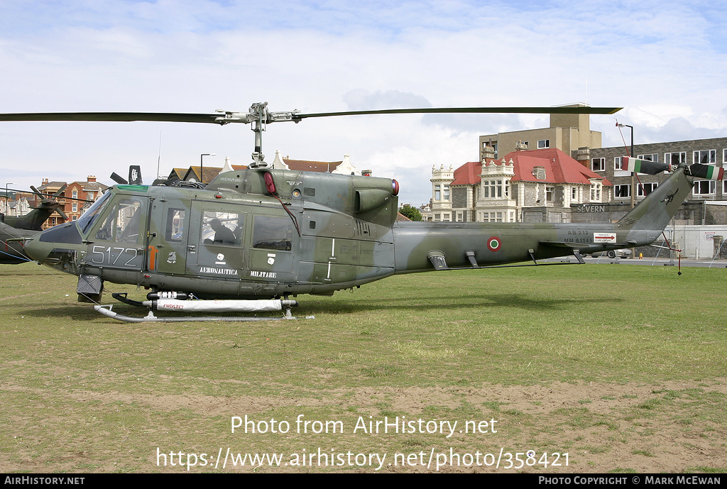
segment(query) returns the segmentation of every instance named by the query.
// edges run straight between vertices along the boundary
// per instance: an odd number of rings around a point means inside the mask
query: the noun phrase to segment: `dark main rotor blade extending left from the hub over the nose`
[[[221,124],[225,113],[190,114],[172,112],[35,112],[0,114],[0,121],[157,121]]]

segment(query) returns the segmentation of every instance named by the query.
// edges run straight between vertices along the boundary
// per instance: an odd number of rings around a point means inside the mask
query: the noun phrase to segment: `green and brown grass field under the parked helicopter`
[[[134,324],[0,273],[0,472],[727,470],[726,270],[432,272],[299,296],[315,320]]]

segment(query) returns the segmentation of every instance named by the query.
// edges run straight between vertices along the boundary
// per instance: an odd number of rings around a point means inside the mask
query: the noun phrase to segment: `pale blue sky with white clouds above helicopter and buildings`
[[[412,107],[623,107],[592,116],[604,146],[727,135],[727,7],[713,1],[54,0],[0,2],[0,113]],[[478,160],[478,136],[546,115],[398,115],[270,124],[263,152],[395,178]],[[629,140],[630,134],[624,132]],[[142,166],[248,164],[249,126],[0,122],[0,186],[111,184]]]

